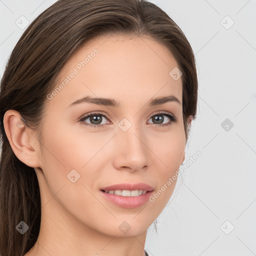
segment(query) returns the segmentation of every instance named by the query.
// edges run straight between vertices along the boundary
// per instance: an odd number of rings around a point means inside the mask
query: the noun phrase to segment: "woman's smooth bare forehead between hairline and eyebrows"
[[[53,101],[68,105],[77,97],[122,98],[128,104],[162,95],[182,101],[178,64],[167,47],[150,37],[105,36],[80,45],[59,72]],[[62,84],[62,86],[59,86]],[[54,90],[54,88],[53,88]],[[120,106],[123,102],[120,101]]]

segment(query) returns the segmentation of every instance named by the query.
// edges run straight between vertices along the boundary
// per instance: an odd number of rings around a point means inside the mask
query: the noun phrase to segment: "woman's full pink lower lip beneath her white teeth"
[[[103,191],[100,192],[107,200],[115,205],[123,208],[137,208],[148,201],[150,195],[153,193],[153,190],[147,191],[145,194],[138,196],[122,196],[117,194],[109,194]]]

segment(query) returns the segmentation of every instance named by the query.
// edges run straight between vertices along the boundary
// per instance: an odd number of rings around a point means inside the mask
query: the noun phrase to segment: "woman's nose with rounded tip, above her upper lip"
[[[125,123],[124,125],[128,124]],[[146,146],[147,139],[142,128],[131,125],[124,131],[125,129],[122,126],[119,127],[121,128],[117,129],[117,134],[113,138],[115,145],[114,167],[116,169],[128,169],[129,171],[146,168],[150,150]]]

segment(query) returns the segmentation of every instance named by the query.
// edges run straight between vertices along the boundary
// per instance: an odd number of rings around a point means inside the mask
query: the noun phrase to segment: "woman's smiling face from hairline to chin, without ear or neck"
[[[45,98],[35,168],[42,210],[54,205],[58,218],[111,236],[144,232],[168,202],[176,183],[168,180],[184,159],[179,76],[174,57],[153,39],[111,36],[79,47]],[[176,100],[150,104],[166,96]],[[138,195],[144,200],[101,191],[120,183],[145,183],[153,191]],[[128,187],[115,190],[134,188]]]

